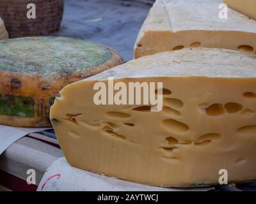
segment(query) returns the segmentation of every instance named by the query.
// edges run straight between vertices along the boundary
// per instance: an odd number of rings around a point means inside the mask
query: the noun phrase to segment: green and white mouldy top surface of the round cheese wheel
[[[110,52],[109,52],[110,51]],[[109,61],[111,49],[91,41],[33,37],[0,41],[0,69],[22,73],[72,73]]]

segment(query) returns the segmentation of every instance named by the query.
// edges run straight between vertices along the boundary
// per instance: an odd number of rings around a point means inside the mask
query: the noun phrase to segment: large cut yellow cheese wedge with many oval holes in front
[[[108,87],[109,77],[125,85],[163,82],[163,109],[95,105],[93,86]],[[256,55],[217,48],[162,52],[60,94],[50,118],[72,166],[156,186],[218,184],[221,169],[228,182],[256,179]]]

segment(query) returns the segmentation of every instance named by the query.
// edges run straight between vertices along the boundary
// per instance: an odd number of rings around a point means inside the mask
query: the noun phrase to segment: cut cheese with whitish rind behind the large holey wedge
[[[134,57],[184,47],[256,51],[256,21],[228,10],[219,18],[221,0],[157,0],[141,27]]]

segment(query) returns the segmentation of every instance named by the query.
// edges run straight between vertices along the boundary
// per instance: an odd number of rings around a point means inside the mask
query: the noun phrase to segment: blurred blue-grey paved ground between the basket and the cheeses
[[[124,61],[129,61],[150,9],[150,4],[143,1],[65,0],[61,29],[54,35],[97,41],[114,48]]]

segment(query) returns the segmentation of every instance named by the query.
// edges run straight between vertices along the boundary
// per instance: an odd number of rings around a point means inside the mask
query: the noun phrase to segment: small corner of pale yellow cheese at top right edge
[[[255,0],[223,0],[230,8],[256,20]]]

